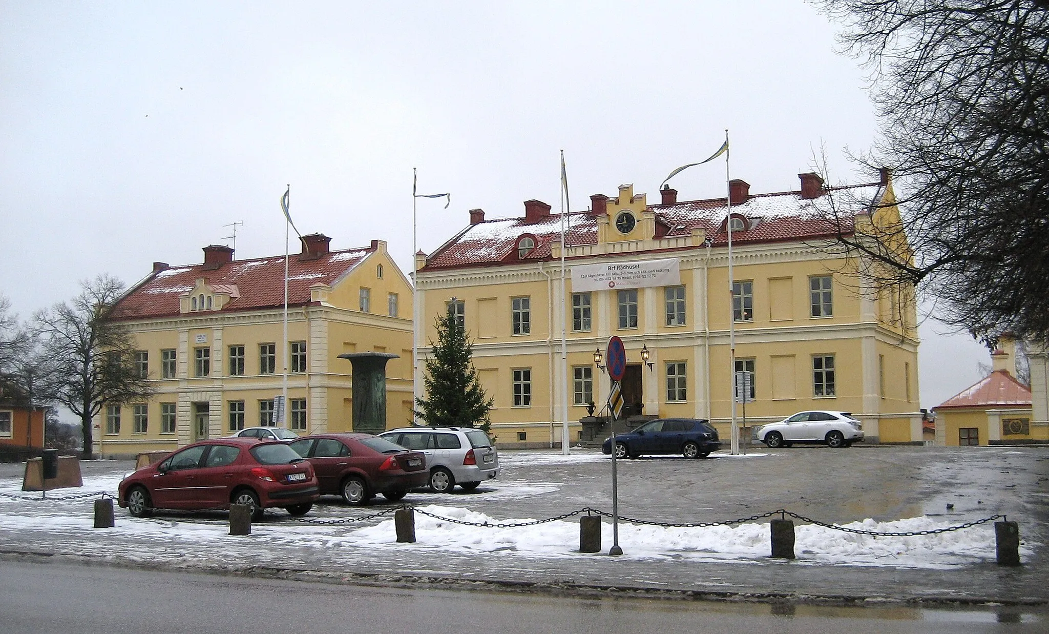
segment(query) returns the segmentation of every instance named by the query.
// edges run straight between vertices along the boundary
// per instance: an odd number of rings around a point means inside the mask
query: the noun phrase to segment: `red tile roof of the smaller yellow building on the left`
[[[331,251],[317,259],[299,259],[299,254],[292,254],[287,262],[287,304],[308,303],[309,287],[318,282],[333,286],[374,251],[373,247]],[[199,278],[207,279],[213,290],[231,294],[231,301],[216,313],[284,305],[284,256],[278,255],[233,260],[213,270],[206,270],[201,263],[155,271],[116,303],[112,318],[178,315],[178,297],[192,291]]]

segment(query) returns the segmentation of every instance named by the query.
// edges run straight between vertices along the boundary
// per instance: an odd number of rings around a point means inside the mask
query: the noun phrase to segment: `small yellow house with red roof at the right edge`
[[[936,406],[936,444],[1045,443],[1047,425],[1032,420],[1031,389],[1016,379],[1015,342],[1003,338],[992,372]]]

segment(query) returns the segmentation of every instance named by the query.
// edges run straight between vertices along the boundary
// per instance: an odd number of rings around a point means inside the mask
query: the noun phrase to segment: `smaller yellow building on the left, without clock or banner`
[[[135,362],[156,387],[148,402],[110,405],[95,418],[104,456],[174,449],[238,429],[275,425],[287,369],[282,426],[301,432],[352,429],[346,353],[399,355],[387,366],[386,420],[411,419],[411,286],[386,242],[329,251],[330,238],[303,237],[288,258],[287,347],[284,256],[234,260],[222,246],[202,263],[153,271],[117,302]],[[285,356],[286,352],[286,356]]]

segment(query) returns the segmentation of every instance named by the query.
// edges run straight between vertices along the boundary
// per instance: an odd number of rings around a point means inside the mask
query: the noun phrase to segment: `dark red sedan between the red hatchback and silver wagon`
[[[370,434],[318,434],[287,443],[317,470],[322,495],[342,495],[352,505],[382,493],[397,502],[426,486],[426,457]]]

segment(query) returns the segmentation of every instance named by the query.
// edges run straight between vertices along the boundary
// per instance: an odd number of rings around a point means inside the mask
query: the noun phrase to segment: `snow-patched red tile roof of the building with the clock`
[[[838,231],[851,234],[855,214],[872,211],[885,190],[880,184],[870,184],[832,187],[827,191],[832,195],[811,199],[801,198],[799,191],[754,194],[742,205],[733,205],[732,213],[746,216],[752,225],[746,231],[732,232],[733,245],[814,239]],[[669,227],[664,237],[687,236],[694,229],[703,229],[713,239],[712,246],[728,242],[728,234],[721,231],[725,220],[724,197],[649,205],[647,209]],[[570,246],[597,244],[597,219],[588,212],[570,213],[568,225]],[[560,239],[560,231],[561,214],[551,214],[531,225],[523,217],[484,220],[468,226],[434,251],[427,258],[426,270],[501,262],[516,247],[517,238],[526,233],[538,240],[524,260],[550,259],[550,242]],[[511,258],[511,261],[517,260]]]

